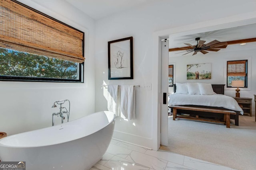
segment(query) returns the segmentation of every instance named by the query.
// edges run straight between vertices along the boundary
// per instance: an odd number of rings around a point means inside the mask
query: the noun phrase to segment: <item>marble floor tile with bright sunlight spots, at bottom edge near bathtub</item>
[[[114,156],[104,166],[112,170],[149,170],[149,167],[137,164],[118,156]]]

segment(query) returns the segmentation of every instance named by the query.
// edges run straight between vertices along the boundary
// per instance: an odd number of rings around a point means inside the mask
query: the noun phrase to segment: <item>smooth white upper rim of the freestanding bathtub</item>
[[[114,112],[112,112],[112,111],[97,111],[97,112],[94,112],[94,113],[100,113],[100,112],[110,112],[110,113],[113,114],[113,118],[112,118],[111,121],[109,121],[104,127],[102,127],[101,129],[98,129],[98,131],[101,131],[102,129],[104,129],[105,127],[107,127],[108,125],[110,125],[110,123],[113,123],[113,122],[115,121],[115,119],[116,119],[116,114],[115,114]],[[74,119],[74,120],[72,120],[72,121],[76,121],[76,120],[78,120],[78,119],[82,119],[82,118],[84,118],[84,117],[91,116],[91,115],[94,114],[94,113],[91,113],[91,114],[89,114],[89,115],[86,115],[86,116],[83,116],[83,117]],[[106,114],[106,113],[105,113],[105,114]],[[69,121],[69,122],[72,122],[72,121]],[[41,128],[41,129],[50,129],[50,128],[52,128],[52,127],[58,128],[58,126],[61,127],[61,125],[66,124],[66,123],[69,123],[69,122],[65,122],[65,123],[62,123],[62,124],[59,124],[59,125],[56,125],[56,126],[44,127],[44,128]],[[16,136],[16,135],[22,135],[22,134],[24,134],[24,133],[31,133],[31,132],[34,132],[34,131],[39,131],[39,130],[41,130],[41,129],[36,129],[36,130],[32,130],[32,131],[26,131],[26,132],[17,133],[17,134],[14,134],[14,135],[10,135],[10,136],[4,137],[4,138],[0,139],[0,147],[10,147],[10,148],[36,148],[36,147],[46,147],[46,146],[58,145],[58,144],[62,144],[62,143],[68,143],[68,142],[70,142],[70,141],[78,140],[78,139],[81,139],[81,138],[90,136],[90,135],[92,135],[92,134],[98,132],[98,131],[94,131],[93,133],[90,133],[90,134],[88,134],[88,135],[86,135],[86,136],[78,137],[78,138],[75,138],[75,139],[72,139],[72,140],[68,140],[68,141],[64,141],[64,142],[52,143],[51,145],[13,146],[13,145],[4,145],[4,144],[1,143],[1,141],[6,140],[6,138],[11,138],[11,137],[14,137],[14,136]]]

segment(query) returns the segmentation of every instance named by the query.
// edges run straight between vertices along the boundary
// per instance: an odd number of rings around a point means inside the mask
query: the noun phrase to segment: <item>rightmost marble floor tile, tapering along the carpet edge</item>
[[[232,170],[232,168],[228,168],[226,166],[213,164],[188,156],[185,156],[183,165],[190,168],[194,168],[196,170]]]

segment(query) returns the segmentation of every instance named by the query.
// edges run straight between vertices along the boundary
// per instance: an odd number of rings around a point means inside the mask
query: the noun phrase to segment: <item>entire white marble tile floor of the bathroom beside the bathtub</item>
[[[112,139],[102,159],[90,170],[234,170],[196,158],[149,150]]]

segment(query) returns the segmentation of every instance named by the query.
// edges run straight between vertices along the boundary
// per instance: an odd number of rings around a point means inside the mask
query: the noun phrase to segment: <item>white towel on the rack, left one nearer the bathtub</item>
[[[108,111],[112,111],[116,116],[120,115],[120,88],[118,85],[108,85]]]

